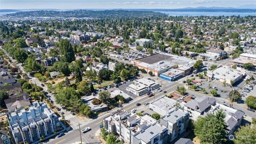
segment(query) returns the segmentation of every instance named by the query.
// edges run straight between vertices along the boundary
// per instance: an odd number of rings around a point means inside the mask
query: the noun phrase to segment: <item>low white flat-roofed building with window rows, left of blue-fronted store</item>
[[[133,84],[126,87],[126,90],[135,95],[143,95],[160,87],[159,83],[146,78],[135,79]]]

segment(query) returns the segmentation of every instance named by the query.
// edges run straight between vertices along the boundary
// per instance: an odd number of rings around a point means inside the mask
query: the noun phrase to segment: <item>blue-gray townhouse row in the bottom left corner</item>
[[[60,129],[58,116],[44,102],[6,114],[15,143],[36,142]]]

